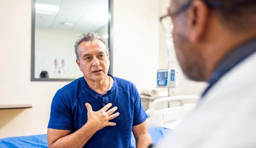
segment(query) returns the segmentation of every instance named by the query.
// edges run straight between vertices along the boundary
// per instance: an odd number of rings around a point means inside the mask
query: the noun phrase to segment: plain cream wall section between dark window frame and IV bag
[[[158,0],[114,0],[113,73],[154,88],[158,68]]]

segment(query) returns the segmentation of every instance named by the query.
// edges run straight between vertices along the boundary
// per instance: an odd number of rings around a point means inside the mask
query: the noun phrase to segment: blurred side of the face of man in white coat
[[[182,5],[182,4],[181,4]],[[168,11],[175,12],[181,6],[177,0],[171,0]],[[184,74],[192,80],[204,80],[204,58],[188,38],[189,27],[186,24],[186,12],[172,18],[173,43],[177,60]]]

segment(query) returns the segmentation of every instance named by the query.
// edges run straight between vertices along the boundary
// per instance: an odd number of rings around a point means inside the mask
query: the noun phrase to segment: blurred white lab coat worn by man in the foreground
[[[157,148],[256,148],[256,53],[218,80]]]

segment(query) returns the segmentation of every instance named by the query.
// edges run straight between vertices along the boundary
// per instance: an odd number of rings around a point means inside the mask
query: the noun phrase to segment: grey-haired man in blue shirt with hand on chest
[[[131,82],[108,74],[109,50],[95,33],[75,43],[83,77],[62,87],[51,104],[49,148],[137,148],[152,143],[147,114]]]

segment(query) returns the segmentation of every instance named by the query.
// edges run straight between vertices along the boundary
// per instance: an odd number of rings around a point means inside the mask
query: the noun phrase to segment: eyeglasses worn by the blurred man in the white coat
[[[166,33],[172,34],[172,31],[173,31],[172,18],[174,18],[175,16],[178,16],[182,12],[185,12],[186,10],[188,10],[188,8],[191,6],[192,1],[193,0],[189,0],[189,2],[187,2],[186,4],[181,6],[175,12],[170,12],[168,10],[168,14],[160,17],[161,25]],[[203,1],[205,2],[206,6],[208,6],[210,8],[221,8],[221,6],[222,6],[221,3],[218,1],[207,1],[207,0],[203,0]]]

